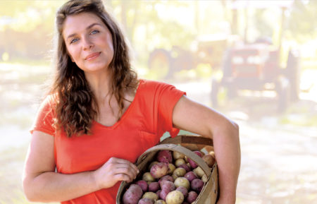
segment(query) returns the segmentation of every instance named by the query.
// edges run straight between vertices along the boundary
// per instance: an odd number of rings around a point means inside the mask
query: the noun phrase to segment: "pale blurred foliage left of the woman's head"
[[[64,1],[0,1],[0,55],[42,59],[49,55],[54,13]]]

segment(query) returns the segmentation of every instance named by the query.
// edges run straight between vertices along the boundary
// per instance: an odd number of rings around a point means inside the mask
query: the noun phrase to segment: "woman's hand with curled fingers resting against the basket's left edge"
[[[104,165],[94,171],[94,180],[101,188],[110,188],[118,181],[131,182],[137,177],[139,169],[128,160],[111,157]]]

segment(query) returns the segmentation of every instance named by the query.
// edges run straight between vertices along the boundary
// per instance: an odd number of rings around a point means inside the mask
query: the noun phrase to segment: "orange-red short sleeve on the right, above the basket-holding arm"
[[[171,137],[175,137],[180,130],[173,127],[173,109],[178,100],[180,100],[180,97],[186,95],[186,92],[166,83],[162,83],[161,85],[162,89],[159,95],[159,126],[168,131]]]

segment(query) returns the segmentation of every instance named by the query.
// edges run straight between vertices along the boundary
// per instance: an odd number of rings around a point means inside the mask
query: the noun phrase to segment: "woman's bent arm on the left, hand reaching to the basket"
[[[137,167],[127,160],[111,158],[92,172],[55,172],[54,137],[40,131],[32,134],[23,172],[23,190],[33,202],[61,202],[109,188],[117,181],[132,181]]]

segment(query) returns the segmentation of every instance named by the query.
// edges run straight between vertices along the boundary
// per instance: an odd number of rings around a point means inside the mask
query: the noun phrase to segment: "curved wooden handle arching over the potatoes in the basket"
[[[149,154],[150,152],[156,152],[159,150],[171,150],[171,151],[180,152],[184,154],[185,156],[189,157],[194,162],[196,162],[198,166],[201,167],[201,169],[205,172],[207,177],[209,177],[211,174],[211,168],[209,168],[209,166],[206,164],[206,162],[203,159],[201,159],[201,157],[196,155],[191,150],[188,150],[187,148],[184,148],[180,145],[175,145],[175,144],[161,144],[161,145],[156,145],[152,148],[149,148],[141,156],[139,156],[137,160],[137,165],[139,165],[147,157],[147,154]]]

